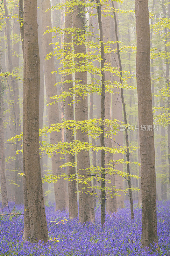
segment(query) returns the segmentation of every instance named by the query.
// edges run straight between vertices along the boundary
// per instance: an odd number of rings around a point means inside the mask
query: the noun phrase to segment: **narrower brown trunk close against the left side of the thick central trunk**
[[[65,29],[72,28],[73,26],[73,13],[69,12],[69,8],[67,7],[67,16],[65,16]],[[67,55],[71,52],[71,44],[72,44],[72,35],[65,34],[64,35],[64,52],[65,52],[65,60],[67,60]],[[67,69],[67,67],[65,67]],[[73,87],[73,76],[72,73],[64,76],[64,81],[71,81],[64,83],[64,90],[68,92],[70,88]],[[70,105],[71,104],[71,105]],[[71,97],[67,97],[65,99],[65,116],[67,120],[74,120],[74,105],[73,105],[73,95]],[[74,140],[73,132],[71,129],[67,129],[66,132],[66,142],[72,142]],[[67,162],[74,163],[75,156],[72,154],[67,154],[66,158]],[[68,175],[75,175],[75,168],[71,166],[67,166],[66,168]],[[68,206],[69,206],[69,216],[73,218],[78,218],[78,204],[77,204],[77,188],[76,181],[68,181]]]

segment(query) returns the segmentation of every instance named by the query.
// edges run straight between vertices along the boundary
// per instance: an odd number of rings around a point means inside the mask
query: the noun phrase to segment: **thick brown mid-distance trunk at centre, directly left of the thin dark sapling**
[[[82,3],[78,3],[78,5],[74,6],[73,11],[73,28],[75,29],[74,35],[77,33],[81,35],[85,32],[85,7]],[[80,40],[77,35],[73,38],[73,45],[74,45],[74,54],[82,53],[86,54],[86,46],[84,42],[80,43]],[[74,57],[74,61],[76,62],[76,66],[83,66],[80,62],[84,62],[86,65],[86,60],[83,57]],[[83,71],[75,71],[75,80],[76,83],[81,86],[81,84],[87,84],[87,72]],[[81,81],[81,82],[79,82]],[[81,83],[81,84],[80,84]],[[76,101],[80,100],[79,96],[75,96]],[[75,120],[76,121],[83,121],[88,119],[88,101],[87,97],[81,99],[80,101],[75,103]],[[78,130],[76,132],[76,140],[80,140],[81,142],[89,142],[89,137],[87,133]],[[85,170],[84,170],[85,169]],[[88,175],[90,176],[90,157],[89,151],[82,150],[77,155],[77,170],[78,174],[84,175],[85,177]],[[87,171],[88,170],[88,171]],[[79,183],[79,191],[86,192],[86,190],[82,191],[84,187],[83,184]],[[89,190],[89,189],[88,189]],[[95,214],[94,214],[94,204],[93,204],[93,197],[90,194],[85,194],[79,192],[79,222],[84,223],[87,221],[94,222]]]

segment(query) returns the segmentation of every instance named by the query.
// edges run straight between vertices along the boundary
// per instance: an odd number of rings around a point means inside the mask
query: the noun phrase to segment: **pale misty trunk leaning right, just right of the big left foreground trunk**
[[[50,0],[41,2],[41,15],[42,15],[42,27],[43,33],[46,32],[48,27],[51,27],[51,12],[45,12],[51,7]],[[53,52],[53,46],[49,45],[52,43],[52,33],[46,33],[43,35],[43,53],[44,53],[44,75],[46,84],[46,97],[47,104],[52,103],[53,99],[50,97],[57,95],[57,88],[54,86],[56,84],[55,73],[51,73],[55,70],[54,68],[54,58],[51,56],[49,60],[46,60],[46,55],[49,52]],[[60,123],[59,117],[59,106],[58,103],[48,105],[48,122],[50,124]],[[50,132],[50,143],[57,144],[61,141],[60,132]],[[61,169],[59,166],[63,164],[63,160],[60,160],[60,155],[53,153],[52,156],[52,172],[54,175],[58,175],[64,172],[64,168]],[[55,195],[55,210],[63,210],[68,206],[68,193],[67,193],[67,182],[65,180],[58,180],[54,183],[54,195]]]

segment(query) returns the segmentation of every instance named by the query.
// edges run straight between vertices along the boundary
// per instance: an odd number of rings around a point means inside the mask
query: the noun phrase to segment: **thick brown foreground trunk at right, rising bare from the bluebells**
[[[140,129],[141,189],[142,189],[142,246],[149,247],[156,243],[156,175],[155,148],[152,116],[152,92],[150,73],[150,27],[148,1],[135,0],[137,31],[137,90],[139,127],[146,125],[146,131]],[[147,131],[147,127],[152,127]]]

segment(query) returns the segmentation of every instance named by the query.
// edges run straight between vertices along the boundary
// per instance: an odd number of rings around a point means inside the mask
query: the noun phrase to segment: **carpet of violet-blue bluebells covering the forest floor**
[[[11,209],[13,205],[10,205]],[[23,206],[16,206],[23,212]],[[100,209],[96,209],[94,224],[78,224],[68,212],[55,212],[53,204],[46,206],[49,243],[22,242],[23,216],[0,218],[0,256],[157,256],[170,255],[170,202],[159,202],[158,237],[160,252],[141,250],[141,209],[134,207],[130,218],[129,204],[117,213],[109,214],[101,228]],[[2,209],[0,208],[0,214]],[[3,213],[8,212],[7,209]],[[0,216],[1,217],[1,216]],[[154,246],[153,246],[154,247]]]

